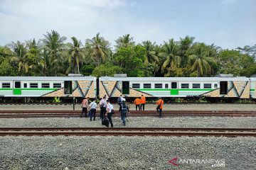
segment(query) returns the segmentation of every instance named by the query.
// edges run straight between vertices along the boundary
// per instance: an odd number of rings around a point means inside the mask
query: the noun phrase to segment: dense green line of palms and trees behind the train
[[[111,50],[110,42],[97,33],[86,39],[66,38],[51,30],[43,40],[11,42],[0,46],[0,76],[66,76],[82,73],[96,77],[127,74],[128,77],[212,77],[256,74],[256,45],[238,50],[220,50],[214,44],[194,42],[188,35],[157,45],[149,40],[135,45],[131,35],[119,37]],[[83,39],[84,40],[84,39]],[[83,65],[85,66],[83,67]],[[96,68],[95,68],[96,67]]]

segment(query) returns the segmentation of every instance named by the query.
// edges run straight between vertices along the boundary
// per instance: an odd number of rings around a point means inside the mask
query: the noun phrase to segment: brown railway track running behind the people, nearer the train
[[[96,116],[100,115],[97,111]],[[129,116],[157,117],[156,111],[130,111]],[[75,118],[80,116],[80,111],[0,111],[0,118]],[[120,116],[118,111],[113,116]],[[163,111],[162,117],[181,116],[218,116],[218,117],[255,117],[256,111]]]

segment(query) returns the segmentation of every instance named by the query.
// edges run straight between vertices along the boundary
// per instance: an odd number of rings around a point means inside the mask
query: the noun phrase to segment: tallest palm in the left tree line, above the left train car
[[[64,36],[60,37],[60,34],[55,31],[51,30],[51,33],[46,32],[47,34],[43,36],[43,44],[45,45],[46,49],[50,52],[49,63],[52,66],[53,72],[55,76],[57,76],[58,69],[60,67],[60,54],[63,51],[65,44],[64,41],[67,39]]]

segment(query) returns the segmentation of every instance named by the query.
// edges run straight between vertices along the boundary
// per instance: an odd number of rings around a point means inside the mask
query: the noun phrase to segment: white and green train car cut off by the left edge
[[[0,77],[0,97],[95,98],[96,77]]]

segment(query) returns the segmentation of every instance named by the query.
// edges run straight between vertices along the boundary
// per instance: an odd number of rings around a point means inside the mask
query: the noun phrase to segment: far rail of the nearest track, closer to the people
[[[0,128],[0,131],[215,131],[215,132],[256,132],[256,128],[73,128],[73,127],[30,127]]]

